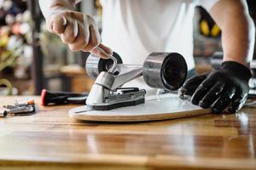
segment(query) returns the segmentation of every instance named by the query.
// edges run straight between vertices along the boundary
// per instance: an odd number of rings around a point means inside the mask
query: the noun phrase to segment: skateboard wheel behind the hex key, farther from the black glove
[[[113,57],[117,59],[118,64],[123,64],[119,54],[113,52]],[[96,54],[90,54],[85,63],[85,70],[90,78],[96,79],[102,71],[108,71],[113,65],[112,59],[102,59]],[[114,75],[118,75],[119,72],[113,72]]]

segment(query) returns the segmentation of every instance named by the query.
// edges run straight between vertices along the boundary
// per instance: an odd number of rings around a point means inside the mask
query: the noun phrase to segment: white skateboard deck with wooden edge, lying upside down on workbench
[[[68,112],[77,120],[93,122],[145,122],[199,116],[211,113],[189,101],[179,99],[175,94],[148,96],[141,105],[128,106],[111,111],[86,111],[86,105],[73,108]]]

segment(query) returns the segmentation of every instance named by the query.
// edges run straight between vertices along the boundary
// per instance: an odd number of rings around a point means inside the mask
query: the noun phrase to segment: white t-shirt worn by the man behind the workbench
[[[143,65],[152,52],[177,52],[188,69],[193,58],[195,6],[207,10],[218,0],[102,0],[102,42],[125,64]],[[128,83],[145,88],[143,80]]]

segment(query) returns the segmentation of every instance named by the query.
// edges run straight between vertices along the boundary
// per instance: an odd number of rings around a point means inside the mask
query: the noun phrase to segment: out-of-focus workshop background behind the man
[[[253,0],[247,3],[255,21],[256,5]],[[101,30],[98,0],[83,0],[77,9],[93,15]],[[194,26],[196,71],[210,71],[212,54],[221,51],[221,31],[201,7],[196,8]],[[71,52],[46,30],[38,1],[0,0],[0,95],[41,94],[43,88],[89,91],[93,80],[84,70],[87,56]]]

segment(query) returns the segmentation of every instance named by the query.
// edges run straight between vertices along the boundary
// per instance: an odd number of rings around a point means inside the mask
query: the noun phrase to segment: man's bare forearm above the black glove
[[[255,28],[247,4],[241,0],[219,0],[210,14],[222,30],[224,61],[248,65],[253,59]]]

